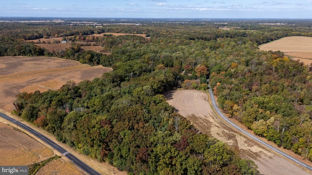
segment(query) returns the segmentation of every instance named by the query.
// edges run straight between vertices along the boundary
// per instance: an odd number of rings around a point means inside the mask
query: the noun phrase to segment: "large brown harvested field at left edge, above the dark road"
[[[55,57],[0,57],[0,108],[11,112],[20,92],[58,89],[67,81],[92,80],[112,70]]]

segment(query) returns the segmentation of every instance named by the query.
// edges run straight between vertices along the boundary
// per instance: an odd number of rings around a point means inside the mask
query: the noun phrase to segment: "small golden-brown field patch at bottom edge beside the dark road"
[[[57,167],[57,168],[56,168]],[[79,170],[73,162],[56,159],[42,167],[36,175],[87,175]]]

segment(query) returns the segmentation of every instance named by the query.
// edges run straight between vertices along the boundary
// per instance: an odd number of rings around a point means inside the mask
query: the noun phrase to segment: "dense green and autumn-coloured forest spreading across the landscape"
[[[56,56],[114,69],[93,81],[69,81],[59,90],[20,93],[13,113],[79,152],[129,174],[258,174],[254,162],[200,134],[162,95],[181,87],[205,90],[209,78],[219,106],[230,117],[312,160],[311,67],[281,52],[258,50],[259,44],[281,37],[312,36],[311,23],[268,26],[236,21],[226,24],[234,27],[231,30],[221,30],[220,25],[191,22],[93,28],[0,23],[1,56]],[[102,32],[151,37],[96,38],[110,55],[81,51],[75,42],[71,48],[52,53],[25,42]]]

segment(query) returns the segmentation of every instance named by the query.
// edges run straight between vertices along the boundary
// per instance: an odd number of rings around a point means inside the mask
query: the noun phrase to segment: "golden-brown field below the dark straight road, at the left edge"
[[[53,156],[53,152],[38,141],[12,126],[0,123],[0,165],[29,165]]]

